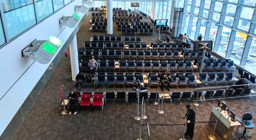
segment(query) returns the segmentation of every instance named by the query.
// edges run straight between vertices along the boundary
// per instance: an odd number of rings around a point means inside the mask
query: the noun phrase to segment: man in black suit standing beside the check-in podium
[[[185,117],[183,119],[187,118],[187,132],[185,135],[188,135],[188,140],[193,139],[194,135],[194,128],[195,128],[195,121],[196,121],[196,112],[192,109],[191,105],[187,104],[187,113],[185,114]]]

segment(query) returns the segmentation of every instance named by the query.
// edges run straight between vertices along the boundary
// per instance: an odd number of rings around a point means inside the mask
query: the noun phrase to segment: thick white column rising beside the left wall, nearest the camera
[[[72,80],[76,80],[76,75],[79,73],[78,50],[76,44],[76,35],[69,44],[69,54],[71,63]]]

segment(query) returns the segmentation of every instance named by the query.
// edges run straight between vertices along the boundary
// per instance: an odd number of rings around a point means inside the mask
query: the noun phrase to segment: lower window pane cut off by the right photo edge
[[[252,44],[249,49],[249,53],[246,54],[245,67],[248,68],[253,74],[256,73],[256,37],[253,37]]]

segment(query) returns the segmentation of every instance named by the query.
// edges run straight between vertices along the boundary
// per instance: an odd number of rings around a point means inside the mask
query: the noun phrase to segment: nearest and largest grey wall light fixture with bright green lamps
[[[55,36],[50,36],[47,40],[35,39],[22,50],[22,57],[28,56],[38,63],[47,64],[58,51],[63,41]]]

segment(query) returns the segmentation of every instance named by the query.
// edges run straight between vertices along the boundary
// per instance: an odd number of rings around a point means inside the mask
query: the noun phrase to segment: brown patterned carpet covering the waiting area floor
[[[90,32],[89,19],[84,21],[77,33],[78,48],[83,48],[84,41],[88,41],[93,35],[107,35],[105,32]],[[114,27],[113,35],[120,35]],[[123,36],[123,35],[122,35]],[[147,44],[157,42],[157,32],[154,36],[141,36],[142,42]],[[208,70],[214,71],[212,69]],[[230,69],[227,71],[233,71]],[[216,71],[215,71],[216,72]],[[197,74],[196,72],[194,72]],[[139,121],[133,119],[136,116],[136,101],[125,103],[124,100],[107,100],[103,111],[100,107],[85,107],[77,115],[61,115],[63,106],[61,105],[59,85],[64,84],[68,91],[74,88],[75,82],[71,80],[71,65],[69,56],[60,61],[50,80],[39,95],[37,101],[31,108],[23,124],[16,133],[14,140],[136,140],[139,138]],[[210,86],[228,85],[230,82],[220,84],[209,84]],[[206,85],[202,85],[206,87]],[[94,88],[93,85],[84,84],[78,91],[104,92],[104,91],[131,91],[131,87],[123,85],[100,85]],[[160,91],[160,88],[157,87]],[[193,87],[188,85],[172,86],[172,91],[193,91]],[[155,92],[155,88],[149,91]],[[165,89],[164,92],[168,93]],[[196,112],[196,121],[208,121],[212,105],[217,105],[216,100],[199,102],[198,107],[193,107]],[[146,115],[148,118],[143,123],[149,124],[180,124],[184,123],[182,117],[185,115],[186,104],[191,104],[190,100],[173,99],[164,100],[163,110],[165,114],[158,114],[160,105],[153,105],[146,102]],[[245,112],[256,114],[256,99],[245,97],[240,99],[228,99],[227,107],[232,109],[238,117]],[[141,105],[140,105],[141,108]],[[252,120],[254,123],[255,119]],[[194,140],[208,140],[208,135],[212,135],[212,129],[207,123],[195,125]],[[256,129],[252,129],[253,137],[256,140]],[[178,140],[181,138],[182,126],[150,126],[151,140]],[[142,137],[146,139],[146,127],[143,126]],[[220,140],[217,137],[218,140]]]

